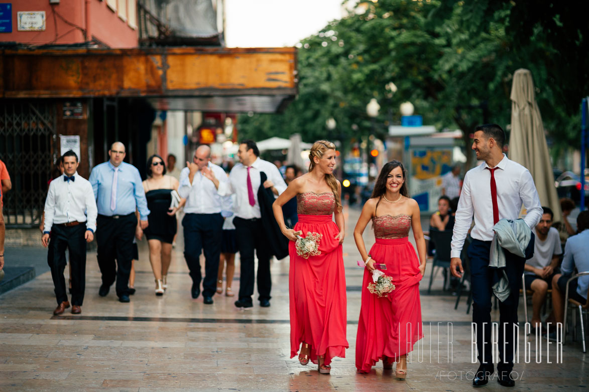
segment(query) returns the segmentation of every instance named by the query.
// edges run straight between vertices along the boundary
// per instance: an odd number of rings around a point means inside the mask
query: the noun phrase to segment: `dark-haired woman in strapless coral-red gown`
[[[372,220],[376,243],[366,252],[362,233]],[[408,240],[409,229],[419,253]],[[362,306],[356,336],[356,368],[369,373],[380,359],[385,369],[396,362],[396,378],[407,375],[407,353],[423,337],[419,281],[425,272],[425,239],[419,206],[408,197],[405,169],[398,160],[380,170],[372,198],[362,209],[354,229],[354,239],[365,262]],[[368,291],[375,263],[386,264],[383,273],[392,277],[395,290],[379,297]]]

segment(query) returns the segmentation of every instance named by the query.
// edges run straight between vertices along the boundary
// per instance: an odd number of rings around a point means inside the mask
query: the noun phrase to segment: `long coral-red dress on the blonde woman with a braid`
[[[311,345],[310,360],[325,355],[329,365],[333,357],[345,357],[346,277],[339,233],[332,220],[335,198],[332,192],[305,192],[297,195],[299,222],[294,230],[322,234],[318,256],[309,259],[296,253],[289,244],[290,272],[290,357],[297,355],[301,343]]]

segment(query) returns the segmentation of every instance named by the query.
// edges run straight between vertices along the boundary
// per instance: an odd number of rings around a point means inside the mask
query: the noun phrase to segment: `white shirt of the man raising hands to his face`
[[[219,183],[227,182],[225,170],[214,163],[209,162],[211,169],[219,180]],[[223,198],[217,193],[214,183],[207,177],[203,176],[200,170],[194,173],[192,184],[188,175],[190,169],[184,167],[180,172],[180,185],[178,186],[178,195],[186,199],[184,213],[187,214],[216,214],[223,209]]]

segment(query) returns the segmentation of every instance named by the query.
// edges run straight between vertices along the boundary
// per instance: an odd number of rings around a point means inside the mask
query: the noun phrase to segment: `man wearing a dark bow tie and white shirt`
[[[47,263],[57,299],[55,316],[70,307],[65,291],[65,250],[70,250],[72,314],[80,314],[86,279],[86,243],[92,242],[98,213],[92,185],[78,172],[78,156],[64,154],[64,175],[49,184],[45,200],[45,227],[41,243],[49,246]]]

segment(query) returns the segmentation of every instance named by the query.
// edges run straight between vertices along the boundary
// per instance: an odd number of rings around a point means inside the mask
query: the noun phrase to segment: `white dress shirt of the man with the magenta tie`
[[[254,192],[254,203],[250,206],[249,196],[247,194],[247,167],[241,163],[233,166],[231,173],[229,173],[229,182],[219,182],[219,195],[229,196],[236,194],[236,200],[233,205],[233,211],[236,216],[242,219],[253,219],[262,217],[260,214],[260,204],[257,200],[257,191],[260,187],[260,172],[266,173],[266,177],[274,183],[274,188],[278,194],[286,190],[286,183],[280,174],[280,170],[273,163],[257,158],[251,165],[250,178],[252,180],[252,188]],[[217,178],[219,178],[217,176]]]

